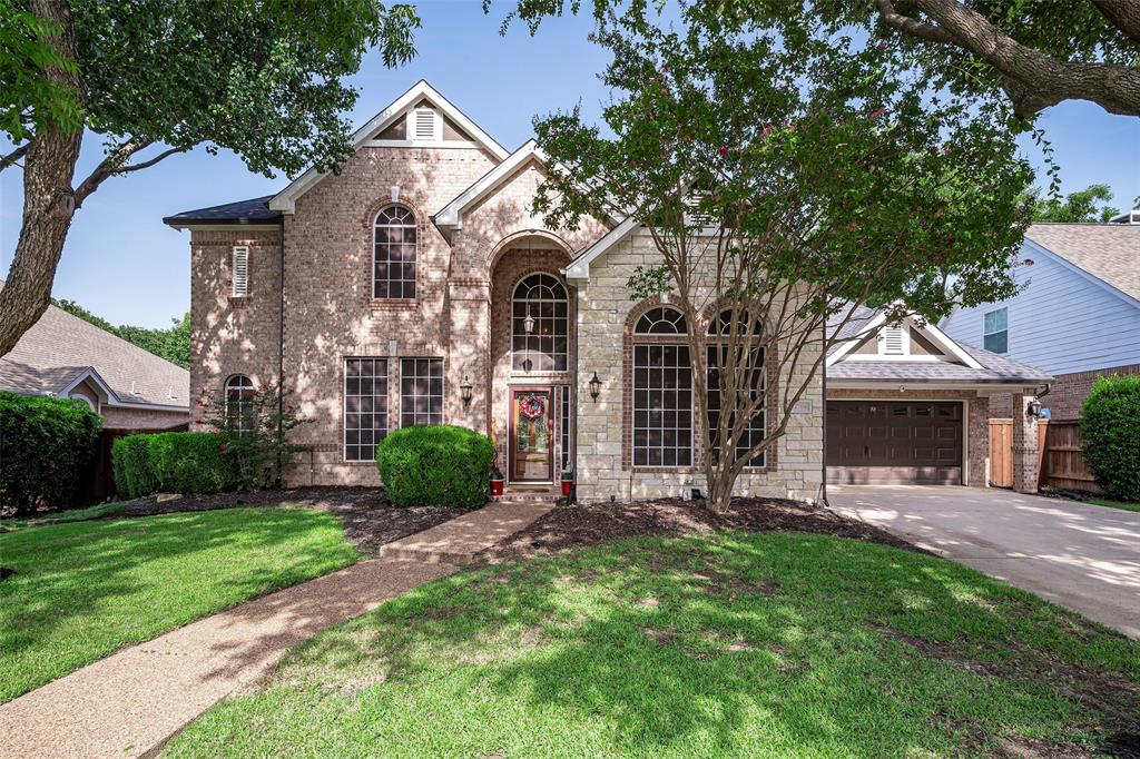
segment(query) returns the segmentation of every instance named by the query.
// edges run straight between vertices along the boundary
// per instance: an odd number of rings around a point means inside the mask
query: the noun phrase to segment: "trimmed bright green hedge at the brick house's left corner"
[[[128,435],[111,448],[120,496],[153,492],[220,492],[238,484],[226,447],[209,432],[158,432]]]

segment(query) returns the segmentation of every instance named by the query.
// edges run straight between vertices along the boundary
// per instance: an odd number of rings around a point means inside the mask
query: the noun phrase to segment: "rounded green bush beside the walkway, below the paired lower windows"
[[[380,479],[397,506],[483,505],[494,457],[487,435],[449,425],[404,427],[376,446]]]

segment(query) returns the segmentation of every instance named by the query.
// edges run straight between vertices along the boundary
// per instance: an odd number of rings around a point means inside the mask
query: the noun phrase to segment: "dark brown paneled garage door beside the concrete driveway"
[[[828,482],[961,484],[962,405],[828,401]]]

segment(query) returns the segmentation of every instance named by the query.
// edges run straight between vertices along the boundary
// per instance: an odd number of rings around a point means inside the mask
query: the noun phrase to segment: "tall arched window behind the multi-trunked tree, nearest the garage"
[[[767,389],[767,367],[765,366],[766,351],[759,344],[764,335],[764,321],[758,318],[750,318],[746,311],[736,312],[736,343],[730,345],[732,340],[732,309],[725,309],[709,321],[708,328],[708,407],[709,407],[709,430],[712,435],[712,456],[718,456],[720,451],[720,370],[730,364],[730,349],[735,348],[735,357],[739,362],[744,364],[736,372],[741,377],[741,384],[748,385],[747,402],[756,402],[756,408],[749,415],[748,424],[736,439],[736,456],[746,456],[752,446],[759,444],[767,433],[767,414],[765,409],[765,392]],[[746,359],[747,357],[747,359]],[[742,399],[742,403],[746,402]],[[734,409],[728,410],[730,415]],[[733,426],[733,417],[730,416],[726,426]],[[748,466],[764,466],[765,451],[760,451],[749,460]]]

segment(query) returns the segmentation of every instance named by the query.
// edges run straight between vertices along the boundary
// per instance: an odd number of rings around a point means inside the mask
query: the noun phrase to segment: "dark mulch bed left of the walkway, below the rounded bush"
[[[386,542],[421,532],[465,513],[459,508],[435,506],[397,508],[388,503],[383,488],[311,487],[222,492],[210,496],[147,496],[127,501],[127,507],[116,516],[295,506],[328,512],[344,525],[344,537],[359,550],[369,554]]]

